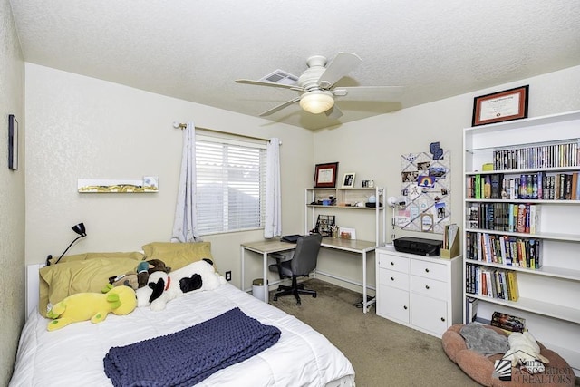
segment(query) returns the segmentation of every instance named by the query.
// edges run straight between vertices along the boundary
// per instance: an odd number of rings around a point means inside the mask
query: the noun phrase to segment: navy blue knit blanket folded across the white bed
[[[279,338],[278,328],[234,308],[174,334],[112,347],[103,362],[115,386],[192,386]]]

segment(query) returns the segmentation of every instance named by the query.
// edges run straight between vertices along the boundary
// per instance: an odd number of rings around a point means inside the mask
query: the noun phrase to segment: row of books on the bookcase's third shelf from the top
[[[468,228],[536,234],[541,229],[541,206],[531,203],[469,203]]]

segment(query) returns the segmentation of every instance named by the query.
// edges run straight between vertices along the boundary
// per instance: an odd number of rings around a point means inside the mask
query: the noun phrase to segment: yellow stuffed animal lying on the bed
[[[129,286],[108,285],[107,293],[77,293],[53,305],[47,316],[53,321],[46,329],[55,331],[68,324],[91,320],[92,324],[101,323],[107,314],[130,314],[137,306],[135,291]]]

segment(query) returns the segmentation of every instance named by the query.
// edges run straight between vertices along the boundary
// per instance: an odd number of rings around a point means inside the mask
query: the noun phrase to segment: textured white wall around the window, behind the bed
[[[281,139],[287,176],[282,183],[287,192],[284,227],[292,232],[303,227],[304,186],[312,181],[312,131],[26,63],[26,262],[60,255],[76,236],[70,227],[80,221],[88,237],[71,248],[72,254],[132,251],[151,241],[169,241],[182,147],[173,121]],[[159,177],[159,193],[77,192],[77,179],[143,176]],[[239,243],[260,237],[256,231],[206,239],[216,241],[216,263],[232,270],[237,284]]]

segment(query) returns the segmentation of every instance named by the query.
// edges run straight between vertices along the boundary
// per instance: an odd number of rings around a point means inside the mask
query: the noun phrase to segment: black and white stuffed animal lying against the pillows
[[[174,298],[213,290],[225,283],[226,279],[216,272],[213,262],[205,258],[169,274],[159,271],[150,275],[149,284],[136,292],[137,305],[150,305],[151,310],[160,311]]]

